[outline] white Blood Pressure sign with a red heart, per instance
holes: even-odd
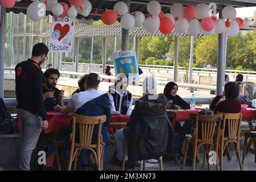
[[[49,51],[72,52],[74,34],[74,18],[58,18],[57,16],[53,16]]]

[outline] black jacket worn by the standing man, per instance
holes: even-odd
[[[15,67],[15,90],[17,108],[38,113],[43,121],[47,119],[43,101],[43,72],[40,66],[33,60],[28,59]]]

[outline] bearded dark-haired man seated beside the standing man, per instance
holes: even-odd
[[[56,88],[60,72],[57,69],[49,68],[44,72],[43,99],[46,111],[54,111],[53,107],[60,105],[64,107],[64,90]]]

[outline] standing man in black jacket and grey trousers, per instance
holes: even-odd
[[[30,170],[31,154],[39,135],[47,129],[47,114],[43,101],[43,72],[40,65],[47,60],[48,47],[43,43],[35,44],[32,57],[15,67],[17,113],[20,122],[19,167]]]

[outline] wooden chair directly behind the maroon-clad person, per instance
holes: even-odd
[[[242,170],[242,163],[240,158],[240,127],[241,127],[241,113],[222,113],[218,112],[217,114],[223,114],[222,126],[221,126],[221,139],[220,139],[220,169],[222,171],[223,166],[223,154],[225,148],[229,143],[234,143],[236,147],[237,160]],[[228,128],[228,135],[225,136],[226,127]]]

